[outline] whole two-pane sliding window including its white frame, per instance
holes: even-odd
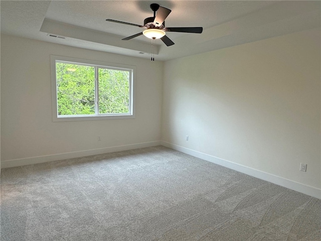
[[[51,56],[53,121],[133,118],[134,69]]]

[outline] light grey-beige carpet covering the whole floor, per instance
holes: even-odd
[[[162,146],[3,169],[1,240],[320,240],[321,200]]]

